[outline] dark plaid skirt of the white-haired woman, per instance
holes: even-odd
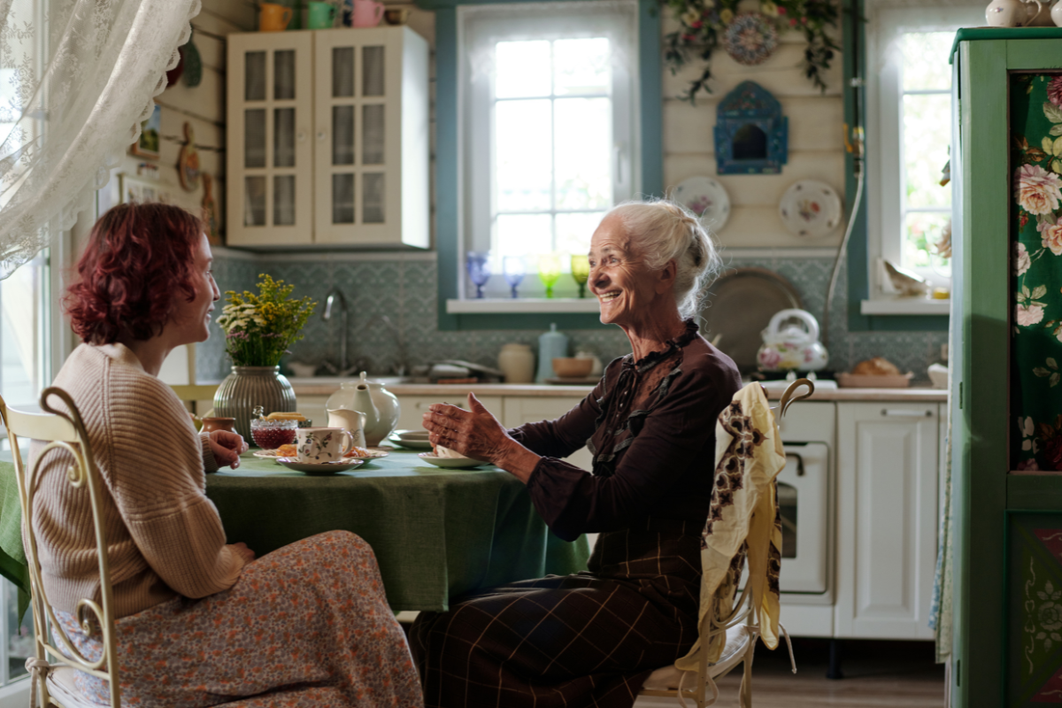
[[[425,705],[630,708],[697,639],[703,523],[603,533],[588,572],[503,585],[422,612],[410,650]]]

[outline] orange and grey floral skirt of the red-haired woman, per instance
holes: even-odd
[[[83,655],[102,654],[99,635],[56,617]],[[291,543],[247,564],[224,592],[174,598],[116,625],[123,706],[423,705],[376,557],[352,533]],[[110,700],[103,679],[79,672],[76,686]]]

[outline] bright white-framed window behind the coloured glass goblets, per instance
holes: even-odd
[[[559,297],[578,292],[601,217],[636,191],[634,2],[473,6],[460,11],[463,254],[461,292],[476,295],[464,254],[489,254],[486,297],[543,297],[539,259],[558,256]]]

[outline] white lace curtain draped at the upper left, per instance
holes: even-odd
[[[0,0],[0,279],[139,139],[200,0]]]

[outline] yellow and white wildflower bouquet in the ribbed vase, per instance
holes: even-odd
[[[218,325],[225,332],[225,351],[237,366],[276,366],[288,347],[303,339],[302,330],[316,303],[289,298],[294,286],[262,273],[258,294],[225,293],[228,305]]]

